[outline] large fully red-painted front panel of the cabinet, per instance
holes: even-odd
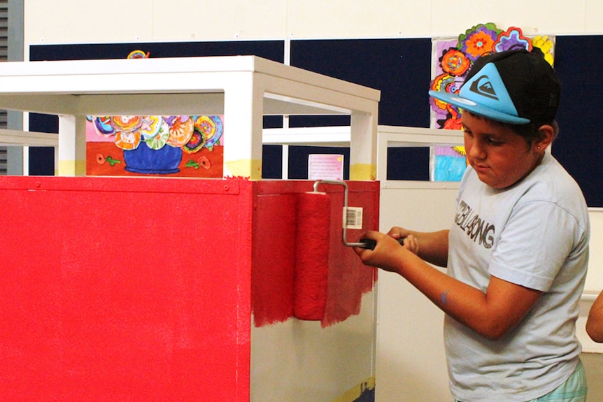
[[[0,178],[0,400],[248,401],[252,185]]]

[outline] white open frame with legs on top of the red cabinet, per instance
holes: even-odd
[[[59,116],[57,175],[85,175],[87,115],[225,116],[224,175],[262,174],[264,115],[350,115],[350,178],[374,180],[381,92],[255,56],[0,64],[0,108]],[[29,134],[24,134],[29,135]]]

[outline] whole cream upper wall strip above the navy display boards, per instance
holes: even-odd
[[[24,43],[457,36],[474,24],[599,34],[600,0],[27,0]]]

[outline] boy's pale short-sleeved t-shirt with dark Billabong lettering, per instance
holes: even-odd
[[[448,275],[483,292],[490,275],[544,292],[526,317],[488,340],[446,316],[451,392],[459,401],[524,402],[572,374],[590,224],[582,192],[546,153],[526,178],[492,189],[469,166],[449,235]]]

